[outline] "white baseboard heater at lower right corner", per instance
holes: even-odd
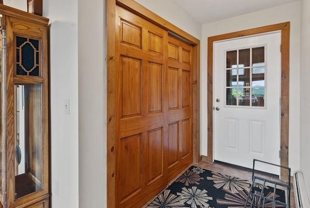
[[[294,173],[294,195],[296,208],[310,208],[305,178],[301,171],[296,171]]]

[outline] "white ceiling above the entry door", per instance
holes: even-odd
[[[199,23],[239,16],[296,0],[173,0]]]

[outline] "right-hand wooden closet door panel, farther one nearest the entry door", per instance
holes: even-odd
[[[169,36],[168,43],[168,180],[193,161],[193,47]]]

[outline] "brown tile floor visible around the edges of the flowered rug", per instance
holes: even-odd
[[[202,167],[204,169],[207,169],[207,170],[211,170],[211,171],[216,171],[216,172],[219,172],[219,173],[223,173],[223,174],[227,174],[227,175],[230,175],[230,176],[236,176],[236,177],[239,177],[239,178],[244,178],[244,179],[247,179],[249,181],[251,181],[251,177],[252,177],[252,171],[251,170],[247,170],[247,169],[241,169],[241,168],[237,168],[237,167],[233,167],[233,166],[229,166],[229,165],[224,165],[224,164],[219,164],[219,163],[210,163],[210,162],[205,162],[205,161],[202,161],[198,164],[192,164],[193,166],[197,166],[197,167]],[[183,173],[179,174],[182,175]],[[257,176],[257,175],[255,175]],[[178,176],[177,176],[178,177]],[[176,177],[176,178],[177,178]],[[272,179],[272,180],[279,180],[273,176],[264,176],[264,178],[269,178],[269,179]],[[174,181],[171,180],[169,182],[168,185],[170,185],[172,182]],[[156,197],[156,196],[155,196]],[[145,204],[143,207],[141,208],[146,208],[147,205],[149,203],[151,203],[155,197],[150,200],[150,202],[148,202],[147,204]],[[293,189],[293,177],[291,177],[291,208],[295,208],[295,199],[294,199],[294,189]]]

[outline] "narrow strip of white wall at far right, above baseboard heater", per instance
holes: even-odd
[[[300,57],[300,167],[310,195],[310,1],[301,1],[301,57]]]

